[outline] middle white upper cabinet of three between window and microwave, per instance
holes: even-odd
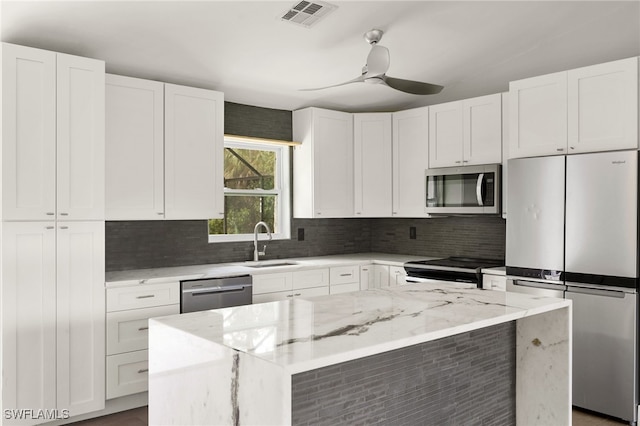
[[[391,114],[353,115],[354,213],[391,216]]]

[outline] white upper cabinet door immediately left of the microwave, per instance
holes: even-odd
[[[394,217],[426,217],[424,171],[429,168],[429,108],[393,114]]]

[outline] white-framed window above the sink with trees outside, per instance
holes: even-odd
[[[209,220],[209,242],[253,240],[259,221],[274,239],[289,238],[289,147],[227,140],[224,147],[224,219]]]

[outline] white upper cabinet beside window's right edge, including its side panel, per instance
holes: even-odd
[[[352,217],[353,118],[320,108],[293,112],[293,216]]]

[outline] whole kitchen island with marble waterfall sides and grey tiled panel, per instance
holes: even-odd
[[[150,424],[570,424],[571,302],[411,284],[149,321]]]

